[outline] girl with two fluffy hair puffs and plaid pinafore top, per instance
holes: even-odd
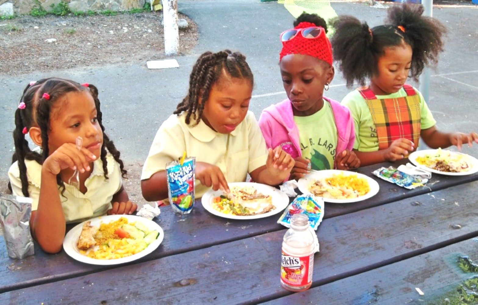
[[[462,143],[478,142],[474,132],[438,131],[422,94],[405,84],[409,74],[416,80],[425,65],[436,64],[443,51],[445,27],[422,16],[423,11],[421,5],[393,6],[386,24],[371,29],[351,16],[333,22],[334,57],[347,85],[357,80],[364,86],[370,79],[369,86],[342,100],[354,117],[354,149],[362,165],[403,159],[417,148],[420,137],[431,148],[461,149]]]

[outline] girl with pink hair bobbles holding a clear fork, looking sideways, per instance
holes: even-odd
[[[65,224],[108,214],[131,214],[120,152],[104,133],[98,89],[59,78],[31,82],[15,112],[15,153],[9,170],[14,195],[33,199],[33,238],[61,250]],[[30,150],[25,134],[41,150]],[[76,139],[82,138],[77,149]],[[79,171],[79,189],[67,182]]]

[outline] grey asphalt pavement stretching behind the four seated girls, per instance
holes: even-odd
[[[366,20],[370,26],[383,23],[393,2],[371,7],[368,1],[332,1],[338,15]],[[46,76],[95,84],[102,103],[107,133],[126,164],[140,166],[161,123],[173,113],[187,92],[189,74],[205,51],[240,51],[254,73],[255,87],[250,110],[259,118],[262,109],[286,98],[279,72],[279,34],[292,28],[293,16],[283,4],[260,0],[178,0],[178,10],[199,28],[199,41],[191,54],[171,56],[180,67],[149,70],[141,65],[108,65],[28,74],[16,77],[0,72],[0,182],[6,181],[11,163],[14,111],[23,88]],[[436,5],[433,16],[448,28],[445,52],[431,71],[429,107],[442,131],[478,131],[478,6],[447,1]],[[414,86],[418,84],[410,82]],[[353,88],[345,86],[336,69],[329,98],[341,100]],[[464,148],[478,157],[478,145]],[[3,189],[3,185],[0,189]]]

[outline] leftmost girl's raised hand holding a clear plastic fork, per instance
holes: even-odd
[[[72,170],[77,168],[80,173],[85,173],[90,170],[89,163],[96,158],[97,156],[86,148],[78,150],[76,144],[64,143],[45,159],[42,168],[54,175],[68,167]]]

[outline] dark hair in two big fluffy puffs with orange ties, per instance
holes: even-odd
[[[403,3],[388,10],[384,25],[369,28],[367,22],[353,16],[339,16],[331,22],[335,33],[331,39],[334,58],[347,80],[365,85],[378,72],[378,60],[385,48],[408,44],[412,47],[410,76],[417,80],[426,65],[435,65],[443,51],[445,26],[438,20],[422,16],[424,7]]]

